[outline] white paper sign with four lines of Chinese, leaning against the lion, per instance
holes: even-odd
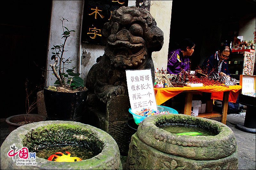
[[[151,69],[125,71],[132,112],[143,108],[157,110]]]

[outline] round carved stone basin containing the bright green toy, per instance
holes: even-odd
[[[158,128],[188,124],[215,136],[182,136]],[[140,159],[138,159],[140,158]],[[236,138],[223,123],[189,115],[152,115],[132,136],[126,169],[237,169]]]

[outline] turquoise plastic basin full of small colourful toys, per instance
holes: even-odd
[[[166,106],[160,106],[157,105],[157,110],[152,110],[150,108],[141,110],[140,112],[133,113],[131,107],[129,108],[129,112],[133,116],[133,120],[137,125],[140,125],[140,123],[145,119],[146,117],[149,117],[151,115],[157,115],[157,114],[178,114],[176,110],[174,110],[171,107]]]

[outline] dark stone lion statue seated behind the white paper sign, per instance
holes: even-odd
[[[113,11],[102,41],[105,53],[89,70],[85,84],[98,99],[107,103],[113,96],[128,95],[125,70],[150,68],[155,80],[151,54],[162,48],[164,33],[148,10],[122,6]]]

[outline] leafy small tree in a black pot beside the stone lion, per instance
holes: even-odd
[[[50,64],[53,75],[57,78],[55,86],[44,88],[44,102],[48,120],[79,121],[87,100],[88,89],[84,87],[84,80],[79,77],[80,73],[75,73],[75,67],[67,68],[71,63],[70,57],[64,58],[65,44],[68,37],[75,30],[69,30],[63,25],[68,19],[60,19],[62,23],[63,44],[53,45],[51,59],[54,61]]]

